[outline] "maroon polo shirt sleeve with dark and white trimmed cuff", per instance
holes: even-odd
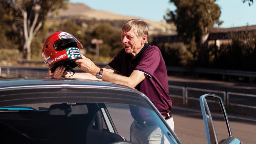
[[[149,47],[146,51],[142,53],[141,59],[138,62],[134,70],[139,70],[151,78],[153,73],[159,66],[160,55],[156,50],[156,47]]]

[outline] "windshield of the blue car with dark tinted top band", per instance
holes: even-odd
[[[86,88],[19,89],[2,91],[0,104],[0,128],[4,131],[1,138],[5,141],[129,142],[130,127],[134,123],[145,128],[154,125],[170,143],[176,143],[175,134],[136,92],[111,89],[87,92]]]

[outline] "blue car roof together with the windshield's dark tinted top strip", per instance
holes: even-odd
[[[120,84],[53,77],[0,78],[0,107],[53,101],[123,103],[156,109],[145,94]]]

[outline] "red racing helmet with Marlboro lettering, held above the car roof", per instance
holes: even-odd
[[[53,72],[58,66],[75,68],[74,59],[81,59],[82,44],[67,32],[55,32],[45,39],[42,49],[44,63]]]

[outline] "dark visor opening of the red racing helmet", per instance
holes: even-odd
[[[53,47],[56,51],[62,51],[65,50],[69,47],[78,47],[76,44],[76,40],[72,38],[65,38],[65,39],[60,39],[57,40],[54,44]]]

